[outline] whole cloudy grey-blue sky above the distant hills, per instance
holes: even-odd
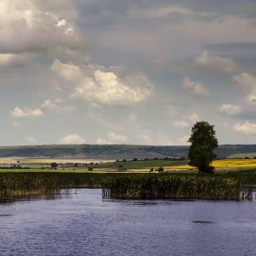
[[[0,0],[0,145],[256,144],[255,0]]]

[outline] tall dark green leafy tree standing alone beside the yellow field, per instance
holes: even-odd
[[[214,170],[214,166],[210,163],[216,159],[217,155],[213,154],[212,151],[219,144],[213,127],[214,125],[209,125],[204,121],[197,122],[192,127],[192,134],[187,141],[191,143],[188,151],[190,160],[188,165],[196,166],[199,174],[213,173]]]

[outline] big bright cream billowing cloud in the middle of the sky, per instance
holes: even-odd
[[[91,106],[133,106],[147,101],[153,94],[154,85],[143,75],[121,80],[114,72],[97,69],[88,76],[78,66],[63,64],[59,59],[54,60],[51,69],[75,87],[71,98],[83,99]]]

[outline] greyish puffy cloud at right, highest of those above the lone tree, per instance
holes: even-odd
[[[208,53],[208,51],[197,57],[196,65],[212,73],[234,75],[239,72],[237,64],[232,59],[219,57],[218,55]]]

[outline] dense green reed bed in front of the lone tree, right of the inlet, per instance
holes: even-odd
[[[136,174],[109,177],[103,195],[120,198],[191,198],[239,200],[251,198],[254,171],[223,175]]]

